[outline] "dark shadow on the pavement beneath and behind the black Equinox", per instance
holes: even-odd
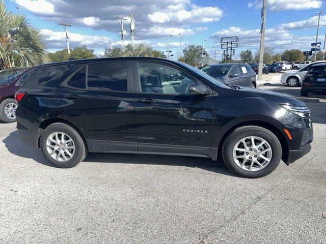
[[[16,156],[26,159],[33,159],[40,164],[49,167],[55,167],[43,157],[40,149],[23,144],[19,140],[16,131],[11,132],[3,140],[3,143],[9,152]],[[185,156],[90,153],[83,162],[184,166],[188,168],[199,168],[214,173],[235,176],[225,166],[221,157],[218,159],[218,161],[213,161],[209,158]]]

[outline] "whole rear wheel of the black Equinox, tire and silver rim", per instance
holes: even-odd
[[[44,157],[59,168],[74,167],[87,155],[82,136],[63,123],[45,128],[40,138],[40,147]]]

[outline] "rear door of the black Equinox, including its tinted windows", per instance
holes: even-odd
[[[130,62],[80,67],[57,90],[60,116],[86,135],[93,152],[137,153]]]

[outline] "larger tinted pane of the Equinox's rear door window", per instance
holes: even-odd
[[[127,92],[127,62],[88,65],[87,88]]]

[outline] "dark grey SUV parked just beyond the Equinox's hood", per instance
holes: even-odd
[[[247,64],[205,66],[202,71],[225,84],[256,87],[256,73]]]

